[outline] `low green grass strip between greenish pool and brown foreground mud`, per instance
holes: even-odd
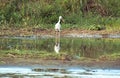
[[[0,58],[39,58],[44,60],[80,60],[80,61],[91,61],[91,60],[109,60],[115,61],[120,59],[120,53],[113,52],[112,54],[104,54],[99,56],[98,58],[89,58],[89,57],[75,57],[74,55],[67,54],[65,52],[61,52],[60,54],[56,54],[54,52],[46,52],[46,51],[35,51],[35,50],[1,50]],[[4,63],[1,61],[0,63]]]

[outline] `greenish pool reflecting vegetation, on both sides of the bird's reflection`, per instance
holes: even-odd
[[[1,37],[1,51],[36,51],[54,52],[55,39],[41,37]],[[61,38],[60,53],[72,55],[73,58],[98,58],[101,55],[120,52],[119,38]]]

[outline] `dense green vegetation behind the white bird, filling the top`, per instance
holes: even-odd
[[[119,0],[0,0],[0,27],[53,28],[62,15],[63,28],[120,30]]]

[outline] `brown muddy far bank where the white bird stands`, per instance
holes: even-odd
[[[107,31],[107,30],[82,30],[82,29],[63,29],[61,30],[61,37],[110,37],[120,38],[120,31]],[[54,29],[41,29],[41,28],[4,28],[0,29],[0,37],[11,36],[37,36],[37,37],[54,37]]]

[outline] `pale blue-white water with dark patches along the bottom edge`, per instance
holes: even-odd
[[[0,78],[120,78],[119,69],[80,67],[0,67]]]

